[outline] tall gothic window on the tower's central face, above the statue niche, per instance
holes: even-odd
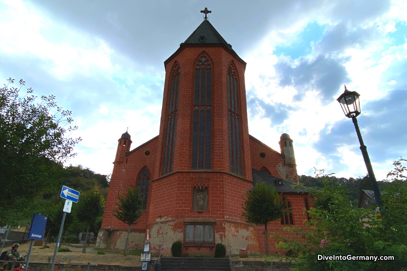
[[[211,92],[211,64],[208,58],[202,55],[195,65],[192,169],[211,168]]]

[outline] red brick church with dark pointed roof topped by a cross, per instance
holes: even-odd
[[[183,253],[213,254],[217,243],[231,252],[265,253],[263,226],[242,217],[242,195],[255,183],[272,185],[287,200],[283,218],[269,233],[303,225],[308,199],[298,183],[293,140],[280,137],[280,152],[249,135],[246,63],[207,19],[165,62],[160,133],[131,149],[118,140],[97,246],[124,249],[128,226],[113,216],[117,196],[129,185],[144,196],[146,211],[131,227],[129,249],[183,243]],[[199,251],[199,252],[198,252]],[[277,252],[270,239],[270,252]]]

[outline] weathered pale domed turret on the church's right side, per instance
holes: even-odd
[[[285,166],[278,168],[281,171],[280,174],[286,180],[298,183],[297,165],[296,157],[294,155],[293,140],[289,137],[288,134],[282,134],[280,136],[280,142],[278,142],[278,144],[280,145],[280,153],[285,156],[284,159]],[[282,170],[283,168],[286,169]]]

